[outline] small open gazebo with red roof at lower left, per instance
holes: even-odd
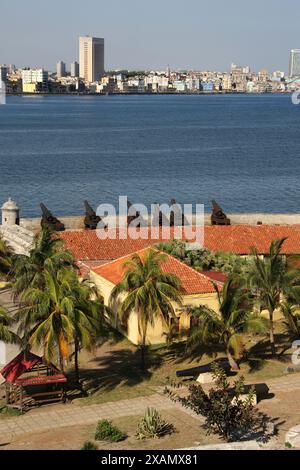
[[[0,374],[5,379],[7,406],[23,410],[48,402],[65,401],[66,376],[32,352],[22,351]]]

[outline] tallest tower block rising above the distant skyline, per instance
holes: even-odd
[[[82,36],[79,38],[80,78],[96,82],[104,75],[104,39]]]

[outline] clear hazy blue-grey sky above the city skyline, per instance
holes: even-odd
[[[80,6],[79,6],[80,5]],[[299,0],[1,0],[0,64],[55,69],[78,36],[106,41],[106,69],[288,70]],[[68,66],[69,68],[69,66]]]

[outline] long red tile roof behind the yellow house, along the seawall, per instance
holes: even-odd
[[[95,231],[76,230],[61,232],[77,260],[109,261],[126,256],[159,242],[159,240],[99,240]],[[300,253],[300,225],[232,225],[229,227],[206,226],[204,246],[211,251],[232,252],[239,255],[250,253],[255,246],[260,254],[266,254],[272,240],[288,237],[283,246],[284,254]],[[166,241],[166,240],[160,240]]]

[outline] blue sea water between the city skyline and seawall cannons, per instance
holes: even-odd
[[[300,106],[289,95],[8,97],[0,203],[81,214],[83,200],[216,199],[226,212],[300,212]]]

